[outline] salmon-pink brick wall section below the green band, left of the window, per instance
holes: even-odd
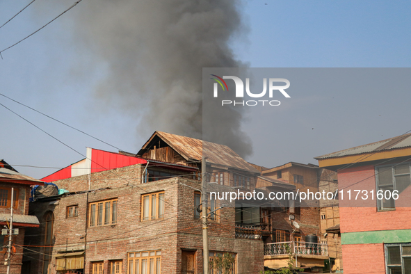
[[[343,245],[344,274],[385,274],[384,244]]]

